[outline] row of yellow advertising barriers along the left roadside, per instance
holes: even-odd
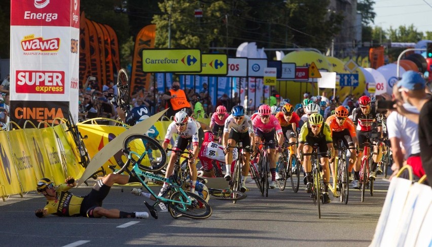
[[[99,121],[101,120],[101,121]],[[209,125],[210,119],[197,119]],[[98,122],[114,121],[115,125],[99,125]],[[39,126],[24,124],[20,128],[14,122],[12,130],[0,131],[0,196],[20,194],[21,196],[36,189],[37,181],[49,178],[56,184],[64,183],[64,178],[72,176],[81,178],[85,168],[79,163],[80,154],[64,119],[55,119],[53,124],[41,122]],[[168,118],[162,118],[154,125],[159,131],[157,139],[162,142],[168,125]],[[87,151],[92,158],[107,143],[126,131],[129,126],[122,125],[113,119],[90,119],[78,123],[78,129],[83,136]],[[9,126],[7,129],[10,129]],[[171,140],[171,142],[173,142]],[[109,166],[115,166],[119,161],[126,161],[121,150],[105,164],[101,165],[105,173],[111,173]]]

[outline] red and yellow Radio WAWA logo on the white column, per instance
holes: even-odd
[[[34,38],[34,34],[31,34],[25,36],[24,39],[21,40],[21,48],[24,51],[24,55],[40,55],[42,52],[57,52],[60,49],[60,38]]]

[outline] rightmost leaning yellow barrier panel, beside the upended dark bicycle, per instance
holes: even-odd
[[[74,142],[72,135],[70,134],[70,131],[67,131],[65,123],[56,125],[53,127],[53,129],[55,131],[57,142],[59,143],[60,152],[67,161],[67,175],[74,178],[80,178],[81,175],[84,173],[84,167],[79,163],[80,155],[78,154],[78,148]]]

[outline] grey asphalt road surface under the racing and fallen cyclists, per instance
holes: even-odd
[[[266,198],[252,183],[247,198],[236,204],[210,200],[213,214],[206,220],[173,219],[167,212],[160,212],[157,220],[39,219],[34,209],[45,205],[42,195],[11,196],[0,202],[0,246],[368,246],[389,185],[380,176],[374,196],[367,194],[365,202],[353,189],[347,205],[331,197],[330,204],[321,206],[318,219],[317,207],[304,187],[294,193],[287,184],[284,191],[270,190]],[[113,187],[103,206],[147,211],[143,197],[131,195],[131,188]],[[90,187],[72,191],[85,195]]]

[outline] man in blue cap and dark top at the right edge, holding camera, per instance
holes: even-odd
[[[420,158],[429,178],[429,184],[432,178],[432,97],[426,93],[426,83],[423,77],[409,70],[402,75],[402,80],[397,84],[403,101],[410,103],[420,111],[420,114],[408,112],[401,101],[397,101],[394,107],[399,114],[407,117],[409,120],[418,123],[418,139],[420,143]]]

